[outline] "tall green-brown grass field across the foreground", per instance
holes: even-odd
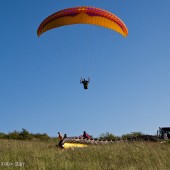
[[[62,150],[54,142],[1,139],[0,169],[169,170],[170,144],[115,142]]]

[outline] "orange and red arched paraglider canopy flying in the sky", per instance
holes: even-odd
[[[124,37],[128,35],[126,25],[116,15],[88,6],[67,8],[50,15],[40,24],[37,35],[40,36],[53,28],[71,24],[94,24],[117,31]]]

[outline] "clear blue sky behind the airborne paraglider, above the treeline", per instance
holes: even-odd
[[[75,6],[114,13],[128,37],[92,25],[37,37],[43,19]],[[97,137],[170,126],[169,7],[169,0],[1,0],[0,132]],[[81,76],[91,78],[87,91]]]

